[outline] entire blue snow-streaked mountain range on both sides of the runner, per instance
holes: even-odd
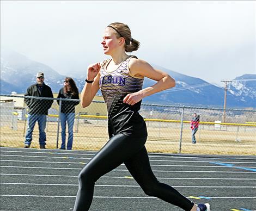
[[[200,78],[195,78],[181,73],[153,65],[161,69],[176,81],[175,88],[164,90],[154,95],[145,97],[144,103],[156,104],[185,104],[186,106],[214,106],[223,107],[224,89],[208,83]],[[35,83],[37,72],[44,72],[45,83],[50,85],[53,92],[58,92],[66,76],[59,74],[51,67],[33,61],[20,53],[1,49],[1,94],[23,94],[29,85]],[[72,77],[72,76],[69,76]],[[72,77],[74,78],[74,77]],[[84,85],[83,79],[74,78],[78,89]],[[256,108],[256,75],[242,75],[229,83],[227,91],[227,108]],[[144,87],[153,85],[154,80],[146,78]]]

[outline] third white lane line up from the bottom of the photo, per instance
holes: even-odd
[[[36,176],[36,177],[78,177],[78,175],[29,175],[24,173],[0,173],[0,175],[8,176]],[[127,179],[126,176],[117,177],[117,176],[102,176],[101,178],[123,178]],[[187,178],[187,177],[157,177],[158,179],[209,179],[209,180],[256,180],[256,178]]]

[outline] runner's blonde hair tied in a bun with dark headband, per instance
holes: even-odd
[[[137,51],[140,42],[132,38],[129,26],[124,23],[114,22],[109,24],[107,27],[110,27],[114,30],[117,38],[125,39],[125,52]]]

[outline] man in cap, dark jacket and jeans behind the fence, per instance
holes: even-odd
[[[39,72],[36,74],[36,83],[29,86],[25,96],[33,97],[51,97],[53,98],[52,90],[50,86],[44,83],[44,73]],[[39,128],[39,145],[40,148],[45,148],[46,145],[46,115],[48,109],[51,108],[53,100],[42,100],[39,98],[25,98],[28,111],[28,128],[25,138],[25,148],[29,148],[32,141],[32,133],[35,127],[36,121]]]

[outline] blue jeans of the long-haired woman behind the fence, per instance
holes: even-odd
[[[73,126],[75,121],[75,113],[60,113],[60,125],[62,126],[62,146],[60,148],[63,148],[67,150],[72,149],[73,144]],[[68,129],[69,129],[69,138],[68,138],[68,144],[66,146],[66,122],[68,122]]]

